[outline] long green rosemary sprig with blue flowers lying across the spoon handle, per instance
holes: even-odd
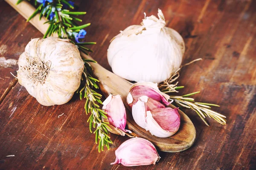
[[[18,0],[17,4],[22,1]],[[49,23],[49,27],[44,34],[44,38],[58,35],[59,38],[70,39],[81,52],[87,55],[89,52],[93,52],[86,46],[96,43],[83,41],[87,34],[84,29],[90,26],[90,23],[81,26],[76,23],[76,21],[82,21],[76,16],[84,15],[86,12],[71,12],[68,8],[74,9],[74,3],[66,0],[34,0],[34,5],[37,6],[37,9],[27,21],[35,17],[36,14],[40,15],[40,19],[45,16],[48,19],[46,23]],[[102,95],[94,90],[99,88],[97,85],[99,80],[93,78],[90,65],[90,62],[95,63],[96,61],[86,59],[83,59],[83,61],[84,72],[81,76],[81,85],[77,93],[80,94],[80,99],[86,98],[84,109],[86,114],[90,113],[87,122],[89,122],[90,132],[95,134],[96,144],[99,143],[99,152],[104,150],[104,146],[109,150],[109,145],[113,143],[109,136],[111,128],[108,126],[109,123],[104,121],[104,118],[107,118],[106,113],[98,105],[102,104]],[[93,131],[93,128],[96,128],[96,130]]]

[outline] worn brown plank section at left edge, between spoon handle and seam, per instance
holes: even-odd
[[[17,60],[23,52],[26,44],[32,37],[39,37],[41,34],[26,23],[20,16],[5,2],[1,2],[0,10],[0,104],[12,87],[17,83],[10,72],[17,75]],[[4,23],[4,24],[2,24]],[[15,44],[15,45],[14,45]]]

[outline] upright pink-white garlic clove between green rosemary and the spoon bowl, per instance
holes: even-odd
[[[102,104],[102,110],[107,113],[110,125],[115,127],[111,128],[111,133],[118,135],[125,135],[125,132],[131,133],[130,130],[125,130],[126,111],[121,96],[109,95]],[[122,133],[122,131],[124,133]]]

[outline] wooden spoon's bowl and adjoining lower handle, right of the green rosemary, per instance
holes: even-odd
[[[88,55],[85,55],[81,52],[81,57],[93,60]],[[119,77],[118,75],[113,74],[112,72],[108,71],[107,69],[103,68],[98,63],[90,63],[93,67],[93,74],[96,78],[99,79],[99,87],[105,97],[107,98],[108,95],[121,95],[122,101],[126,106],[126,113],[127,113],[127,127],[129,130],[133,131],[134,134],[138,137],[145,138],[151,141],[159,150],[164,152],[180,152],[183,150],[188,149],[192,146],[195,141],[195,127],[189,117],[183,113],[179,109],[180,113],[180,128],[174,135],[170,136],[169,138],[159,138],[156,136],[151,135],[148,131],[144,130],[143,128],[139,127],[131,114],[130,107],[126,102],[126,96],[128,95],[129,89],[133,85],[129,81]],[[171,108],[176,108],[172,104],[169,105]],[[128,108],[128,109],[127,109]]]

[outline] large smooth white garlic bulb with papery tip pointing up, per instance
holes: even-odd
[[[178,32],[166,27],[160,9],[158,17],[145,17],[141,26],[129,26],[113,37],[108,63],[116,75],[130,81],[160,83],[180,67],[184,41]]]

